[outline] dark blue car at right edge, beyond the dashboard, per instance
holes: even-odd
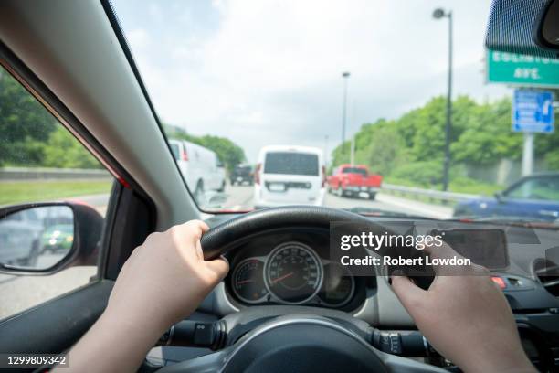
[[[456,218],[559,219],[559,173],[525,176],[495,197],[460,202]]]

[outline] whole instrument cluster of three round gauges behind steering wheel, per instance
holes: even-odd
[[[319,255],[311,242],[271,241],[253,242],[252,247],[239,250],[242,256],[233,259],[227,287],[238,304],[344,308],[353,303],[357,293],[364,293],[361,279],[353,277],[338,262],[328,260],[324,250]],[[274,245],[266,250],[265,243]],[[321,247],[328,248],[328,245]]]

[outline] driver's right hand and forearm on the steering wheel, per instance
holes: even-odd
[[[425,251],[431,258],[460,257],[446,243]],[[459,274],[434,270],[427,291],[406,276],[392,278],[397,297],[429,343],[466,372],[535,372],[511,307],[490,272],[475,264]]]

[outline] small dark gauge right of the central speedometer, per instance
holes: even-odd
[[[352,299],[355,292],[355,279],[340,264],[330,263],[324,266],[324,281],[319,298],[324,304],[342,306]]]

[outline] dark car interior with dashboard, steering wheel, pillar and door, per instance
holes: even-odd
[[[496,1],[485,42],[495,50],[559,56],[553,40],[533,39],[534,25],[551,3],[559,2]],[[549,28],[544,26],[545,35]],[[386,228],[386,217],[315,206],[250,212],[198,208],[111,1],[2,2],[0,64],[115,178],[104,222],[87,208],[68,205],[79,244],[64,262],[46,271],[19,271],[58,272],[88,261],[98,250],[97,275],[70,293],[1,320],[0,352],[68,351],[105,309],[132,251],[154,231],[199,218],[210,227],[202,238],[205,258],[224,255],[230,271],[195,314],[162,336],[139,371],[236,372],[250,365],[251,371],[274,372],[285,364],[290,371],[459,371],[417,331],[391,288],[390,267],[357,276],[330,257],[333,221],[382,233],[392,229]],[[10,211],[18,209],[23,208]],[[435,221],[412,215],[389,221],[410,219]],[[442,229],[483,224],[448,220]],[[512,307],[522,346],[540,371],[556,371],[559,231],[510,221],[493,221],[490,227],[506,239],[506,265],[490,270]],[[290,261],[295,252],[298,260]],[[292,286],[277,286],[280,280]],[[432,277],[416,280],[427,289]]]

